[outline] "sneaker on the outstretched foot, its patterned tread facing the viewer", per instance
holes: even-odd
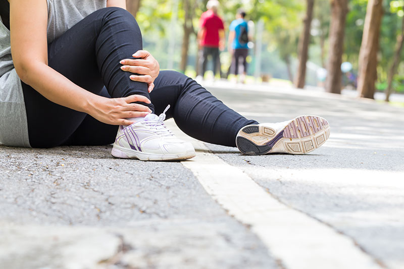
[[[245,126],[237,135],[236,145],[246,155],[305,154],[319,148],[329,137],[327,120],[317,116],[299,116],[278,132],[264,125]]]

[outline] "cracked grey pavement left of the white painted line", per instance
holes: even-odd
[[[0,145],[1,268],[277,268],[181,163],[110,150]]]

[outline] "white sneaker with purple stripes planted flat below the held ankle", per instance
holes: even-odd
[[[148,114],[129,126],[119,126],[111,154],[140,160],[184,160],[195,156],[191,143],[178,139],[164,124],[166,110]]]

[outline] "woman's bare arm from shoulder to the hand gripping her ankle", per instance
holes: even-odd
[[[29,16],[26,11],[29,10]],[[143,96],[105,98],[93,94],[47,65],[47,5],[43,0],[11,0],[11,51],[14,66],[23,82],[47,99],[90,114],[113,125],[128,125],[126,118],[143,117],[147,107],[131,102],[150,101]],[[74,67],[72,67],[74,68]],[[140,112],[142,111],[142,112]]]

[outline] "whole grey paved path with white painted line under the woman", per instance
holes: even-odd
[[[114,159],[111,146],[0,146],[0,267],[404,267],[403,109],[209,89],[260,122],[325,117],[331,137],[303,156],[193,141],[198,155],[182,163]]]

